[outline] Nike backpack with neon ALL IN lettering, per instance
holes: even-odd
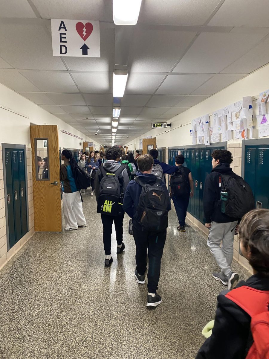
[[[120,166],[114,173],[107,172],[104,166],[100,166],[99,168],[103,174],[103,178],[100,182],[97,213],[117,216],[123,213],[123,197],[118,176],[124,171],[124,167]]]

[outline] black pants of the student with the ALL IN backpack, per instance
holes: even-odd
[[[108,216],[107,214],[101,214],[101,219],[103,223],[103,242],[105,255],[109,256],[111,254],[111,234],[112,234],[112,224],[114,222],[116,239],[118,245],[122,244],[122,235],[123,235],[123,214],[117,216]]]

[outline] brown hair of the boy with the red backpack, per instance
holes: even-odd
[[[269,209],[254,209],[244,215],[239,238],[249,251],[249,263],[257,272],[269,276]]]

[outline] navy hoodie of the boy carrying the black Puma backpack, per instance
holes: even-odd
[[[154,174],[148,174],[148,173],[141,173],[138,172],[136,175],[139,177],[140,180],[142,180],[145,184],[146,183],[155,183],[156,182],[156,176]],[[161,182],[162,187],[164,190],[168,193],[167,187],[164,183],[164,181]],[[138,183],[134,180],[130,181],[123,199],[123,210],[128,214],[129,217],[133,218],[139,203],[139,197],[141,195],[142,186],[138,185]],[[170,211],[171,209],[171,203],[169,207],[167,208],[167,211]],[[134,223],[136,224],[136,223]]]

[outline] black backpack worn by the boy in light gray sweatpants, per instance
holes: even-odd
[[[222,213],[232,218],[242,218],[255,208],[255,201],[250,185],[237,174],[221,174],[221,191],[227,192],[226,200],[221,209]]]

